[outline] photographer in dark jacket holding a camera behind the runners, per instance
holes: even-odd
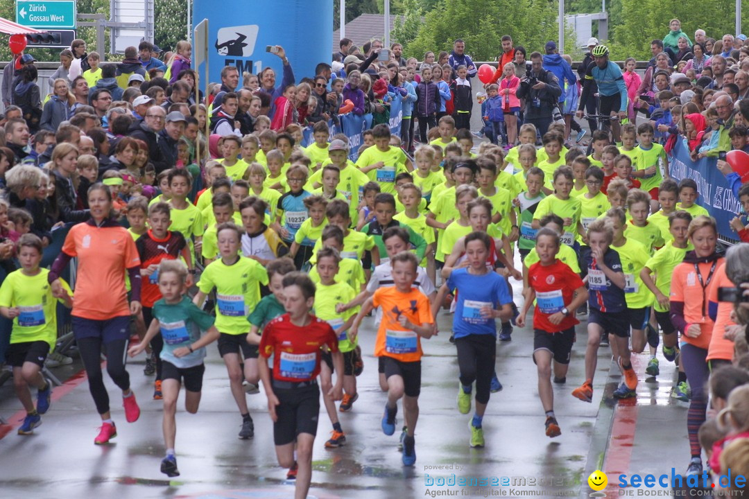
[[[533,123],[543,136],[554,120],[554,110],[562,95],[557,77],[551,71],[544,70],[543,57],[540,52],[530,55],[530,67],[521,79],[518,88],[518,99],[525,99],[524,123]]]

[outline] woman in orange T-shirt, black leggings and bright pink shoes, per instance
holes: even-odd
[[[58,277],[73,257],[78,257],[75,298],[73,298],[73,334],[88,375],[88,388],[94,397],[102,426],[94,444],[106,444],[117,436],[109,414],[109,395],[101,373],[101,348],[106,352],[106,370],[122,390],[128,423],[140,416],[130,377],[125,370],[125,352],[130,339],[130,316],[140,313],[140,258],[130,233],[111,218],[112,193],[95,183],[88,189],[91,218],[73,226],[67,233],[62,251],[52,264],[49,284],[57,293]],[[127,301],[125,270],[130,275],[132,298]],[[57,294],[55,294],[57,296]]]

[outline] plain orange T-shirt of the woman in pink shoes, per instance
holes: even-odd
[[[62,251],[78,257],[73,312],[84,319],[106,320],[129,316],[125,269],[140,267],[133,236],[124,227],[74,225]]]

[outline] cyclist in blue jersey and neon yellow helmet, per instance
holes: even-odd
[[[627,86],[622,77],[621,68],[609,61],[608,54],[609,49],[605,45],[593,47],[592,55],[595,64],[590,64],[586,70],[583,95],[580,97],[580,104],[575,113],[577,117],[583,117],[586,99],[595,85],[598,86],[599,116],[619,114],[619,120],[627,117]],[[595,85],[593,85],[594,82]],[[611,128],[614,139],[619,141],[619,123],[613,121]]]

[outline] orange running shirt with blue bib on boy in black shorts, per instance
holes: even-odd
[[[422,349],[419,334],[401,326],[401,315],[413,324],[433,323],[429,299],[413,288],[401,293],[395,287],[381,287],[372,296],[372,304],[382,309],[382,322],[377,329],[375,357],[392,357],[401,362],[421,360]]]

